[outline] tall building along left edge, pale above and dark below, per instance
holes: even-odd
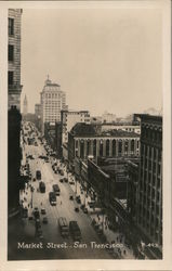
[[[21,9],[9,10],[9,129],[8,129],[8,209],[18,212],[21,168]]]

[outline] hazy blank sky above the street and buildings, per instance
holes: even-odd
[[[162,99],[160,10],[23,10],[22,83],[29,112],[47,75],[71,109],[124,116]]]

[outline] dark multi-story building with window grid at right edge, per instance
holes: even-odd
[[[141,115],[137,225],[150,243],[162,245],[162,117]]]

